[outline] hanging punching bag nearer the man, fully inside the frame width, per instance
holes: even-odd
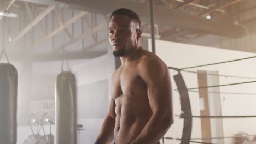
[[[77,143],[75,76],[62,71],[55,86],[55,144]]]

